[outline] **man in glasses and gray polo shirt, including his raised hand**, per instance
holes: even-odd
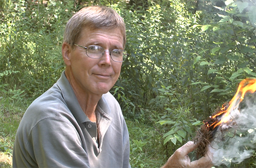
[[[125,43],[124,21],[111,8],[83,8],[68,21],[62,45],[65,72],[25,112],[13,167],[130,167],[129,133],[108,92],[127,56]],[[184,145],[163,167],[210,165],[209,157],[190,163],[187,154],[194,147]]]

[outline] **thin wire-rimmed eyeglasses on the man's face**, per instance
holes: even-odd
[[[113,49],[112,51],[104,50],[103,47],[100,46],[80,46],[78,44],[74,44],[75,46],[84,48],[86,50],[86,55],[92,59],[99,59],[104,55],[106,51],[110,53],[110,57],[115,62],[124,62],[126,57],[129,55],[125,50],[121,49]]]

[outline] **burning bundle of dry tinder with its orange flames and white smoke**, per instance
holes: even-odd
[[[256,143],[256,105],[243,100],[255,91],[256,79],[242,80],[233,99],[203,121],[194,139],[197,157],[204,156],[209,144],[215,165],[241,163],[251,157]],[[242,101],[246,106],[241,108]]]

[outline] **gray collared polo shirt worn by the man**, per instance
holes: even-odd
[[[13,167],[130,167],[129,133],[117,100],[104,94],[96,113],[98,124],[82,111],[63,72],[23,115]]]

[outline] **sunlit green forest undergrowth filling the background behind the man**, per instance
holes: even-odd
[[[111,93],[129,127],[132,167],[163,165],[242,79],[256,77],[255,0],[1,0],[0,167],[11,167],[25,109],[65,67],[66,22],[95,4],[126,23],[130,56]],[[255,167],[255,158],[219,167]]]

